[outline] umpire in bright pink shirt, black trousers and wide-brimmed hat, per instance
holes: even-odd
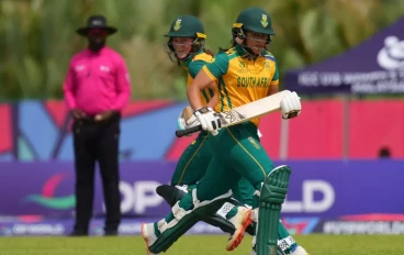
[[[89,234],[92,215],[96,162],[99,163],[105,202],[105,235],[116,235],[121,221],[119,191],[119,138],[121,110],[131,96],[124,59],[105,46],[116,32],[102,15],[90,16],[77,33],[88,46],[69,64],[65,100],[74,118],[76,169],[76,223],[71,235]]]

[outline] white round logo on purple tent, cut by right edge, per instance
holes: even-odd
[[[404,41],[388,36],[378,54],[378,64],[388,70],[404,69]]]

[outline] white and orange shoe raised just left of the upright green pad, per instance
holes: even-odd
[[[246,233],[246,229],[251,224],[251,209],[245,208],[245,207],[238,207],[237,208],[237,214],[234,215],[228,221],[232,222],[234,228],[236,229],[234,231],[234,234],[231,235],[231,237],[227,241],[227,251],[235,250],[243,241],[244,235]]]

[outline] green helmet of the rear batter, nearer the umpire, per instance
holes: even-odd
[[[206,38],[202,22],[193,15],[178,16],[171,24],[167,37],[200,37]]]

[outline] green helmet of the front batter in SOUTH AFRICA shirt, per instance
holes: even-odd
[[[233,27],[243,27],[243,30],[256,33],[274,35],[271,18],[268,12],[257,7],[247,8],[242,11]]]

